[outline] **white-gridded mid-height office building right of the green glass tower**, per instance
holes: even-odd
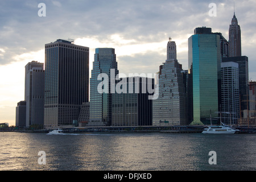
[[[238,63],[221,63],[221,118],[227,125],[236,125],[240,117]]]

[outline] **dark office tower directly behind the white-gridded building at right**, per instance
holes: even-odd
[[[243,110],[247,110],[247,100],[249,98],[249,71],[248,71],[248,57],[238,56],[238,57],[225,57],[222,59],[224,62],[235,62],[238,63],[239,70],[239,93],[240,93],[240,115],[243,118]],[[250,109],[250,105],[249,108]]]

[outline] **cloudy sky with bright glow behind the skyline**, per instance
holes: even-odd
[[[242,32],[242,55],[249,57],[249,78],[256,80],[256,1],[172,0],[1,0],[0,123],[15,125],[15,107],[24,100],[24,67],[44,63],[44,44],[74,39],[90,48],[115,48],[119,72],[155,73],[166,60],[168,38],[177,45],[177,59],[188,68],[188,38],[196,27],[211,27],[228,40],[236,16]],[[39,16],[39,3],[46,16]],[[216,16],[209,16],[210,3]],[[41,12],[41,11],[40,11]]]

